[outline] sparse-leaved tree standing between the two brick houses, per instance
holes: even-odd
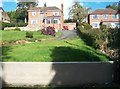
[[[86,19],[88,15],[88,11],[90,8],[83,8],[79,2],[74,2],[72,7],[70,8],[70,18],[75,19],[79,24],[83,22],[83,20]]]

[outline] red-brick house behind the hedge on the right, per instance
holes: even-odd
[[[100,23],[107,27],[120,27],[119,14],[113,9],[97,9],[88,15],[88,23],[93,28],[100,28]]]

